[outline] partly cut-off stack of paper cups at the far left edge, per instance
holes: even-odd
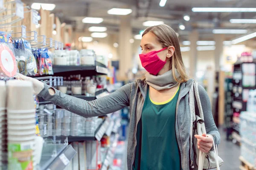
[[[0,166],[7,163],[6,85],[0,81]]]

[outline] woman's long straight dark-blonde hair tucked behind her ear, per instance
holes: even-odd
[[[179,40],[175,31],[167,25],[151,26],[144,31],[144,33],[142,34],[142,37],[148,32],[151,32],[156,36],[158,42],[162,44],[163,48],[166,48],[169,46],[173,46],[175,48],[174,54],[170,58],[169,70],[172,69],[172,75],[175,81],[180,83],[188,81],[189,76],[186,73],[186,68],[183,63],[181,52],[180,52]],[[176,76],[175,69],[180,75],[179,77]],[[145,77],[143,77],[142,79],[145,79]]]

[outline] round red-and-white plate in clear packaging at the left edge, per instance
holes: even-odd
[[[0,79],[19,73],[12,44],[0,42]]]

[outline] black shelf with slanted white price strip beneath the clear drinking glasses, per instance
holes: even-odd
[[[81,135],[81,136],[68,136],[68,142],[82,142],[82,141],[93,141],[93,140],[98,140],[100,141],[102,139],[102,136],[106,132],[108,125],[109,125],[108,120],[104,120],[100,123],[98,128],[95,130],[94,135]]]

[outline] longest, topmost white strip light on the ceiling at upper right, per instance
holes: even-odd
[[[192,8],[193,12],[256,12],[256,8]]]

